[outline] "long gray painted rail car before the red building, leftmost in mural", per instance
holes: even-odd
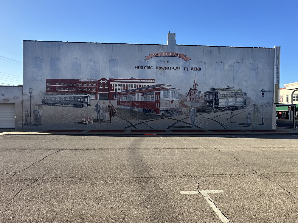
[[[88,107],[90,105],[89,94],[45,94],[41,97],[43,105],[72,105],[73,107]]]

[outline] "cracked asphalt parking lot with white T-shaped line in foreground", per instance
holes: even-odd
[[[0,136],[0,222],[297,222],[297,139]]]

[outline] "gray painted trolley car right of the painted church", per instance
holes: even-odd
[[[204,92],[205,111],[226,111],[246,107],[246,93],[233,87],[210,88]]]

